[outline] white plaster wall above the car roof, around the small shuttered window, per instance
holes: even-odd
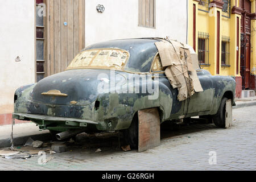
[[[166,37],[186,43],[187,0],[156,0],[155,28],[138,27],[138,0],[85,1],[85,45],[122,38]],[[97,5],[104,5],[98,13]]]

